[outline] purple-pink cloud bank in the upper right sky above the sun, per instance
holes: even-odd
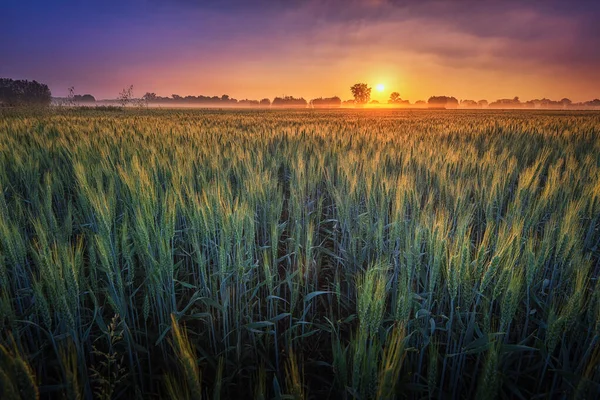
[[[555,4],[555,6],[553,6]],[[338,1],[307,2],[288,19],[307,21],[302,42],[335,38],[343,47],[375,46],[430,53],[440,62],[494,59],[505,64],[597,66],[600,27],[587,13],[563,13],[563,2]],[[596,8],[592,8],[592,13]],[[286,26],[282,15],[282,27]],[[409,40],[403,40],[408,38]],[[314,40],[313,40],[314,43]],[[488,60],[488,61],[485,61]]]

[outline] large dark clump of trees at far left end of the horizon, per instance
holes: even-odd
[[[0,78],[0,104],[7,106],[49,106],[52,93],[37,81]]]

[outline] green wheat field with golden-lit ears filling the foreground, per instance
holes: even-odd
[[[3,399],[595,398],[600,113],[0,115]]]

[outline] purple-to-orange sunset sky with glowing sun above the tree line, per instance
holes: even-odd
[[[600,97],[600,1],[1,0],[0,77],[54,96]]]

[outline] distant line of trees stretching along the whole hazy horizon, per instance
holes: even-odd
[[[366,83],[356,83],[350,87],[352,98],[342,101],[338,96],[319,97],[305,100],[303,97],[281,96],[275,97],[273,101],[268,98],[261,100],[243,99],[237,100],[227,94],[222,96],[180,96],[172,94],[170,97],[158,96],[156,93],[146,92],[143,96],[135,98],[133,94],[133,85],[124,88],[116,99],[104,100],[104,103],[118,103],[121,106],[138,105],[148,106],[150,104],[190,104],[207,106],[237,106],[237,107],[291,107],[291,108],[334,108],[341,106],[362,107],[367,104],[380,104],[377,100],[371,100],[371,87]],[[0,78],[0,106],[23,106],[39,105],[48,106],[53,98],[48,85],[37,81],[13,80]],[[73,106],[78,104],[93,104],[96,99],[91,94],[75,94],[75,88],[68,89],[68,95],[64,98],[55,98],[55,104]],[[394,91],[390,93],[387,101],[388,105],[394,107],[416,107],[416,108],[596,108],[600,107],[600,99],[594,99],[587,102],[574,103],[568,98],[559,101],[547,98],[533,99],[522,102],[519,97],[512,99],[498,99],[493,102],[482,100],[458,100],[452,96],[431,96],[427,101],[419,100],[411,103],[401,98],[400,93]]]

